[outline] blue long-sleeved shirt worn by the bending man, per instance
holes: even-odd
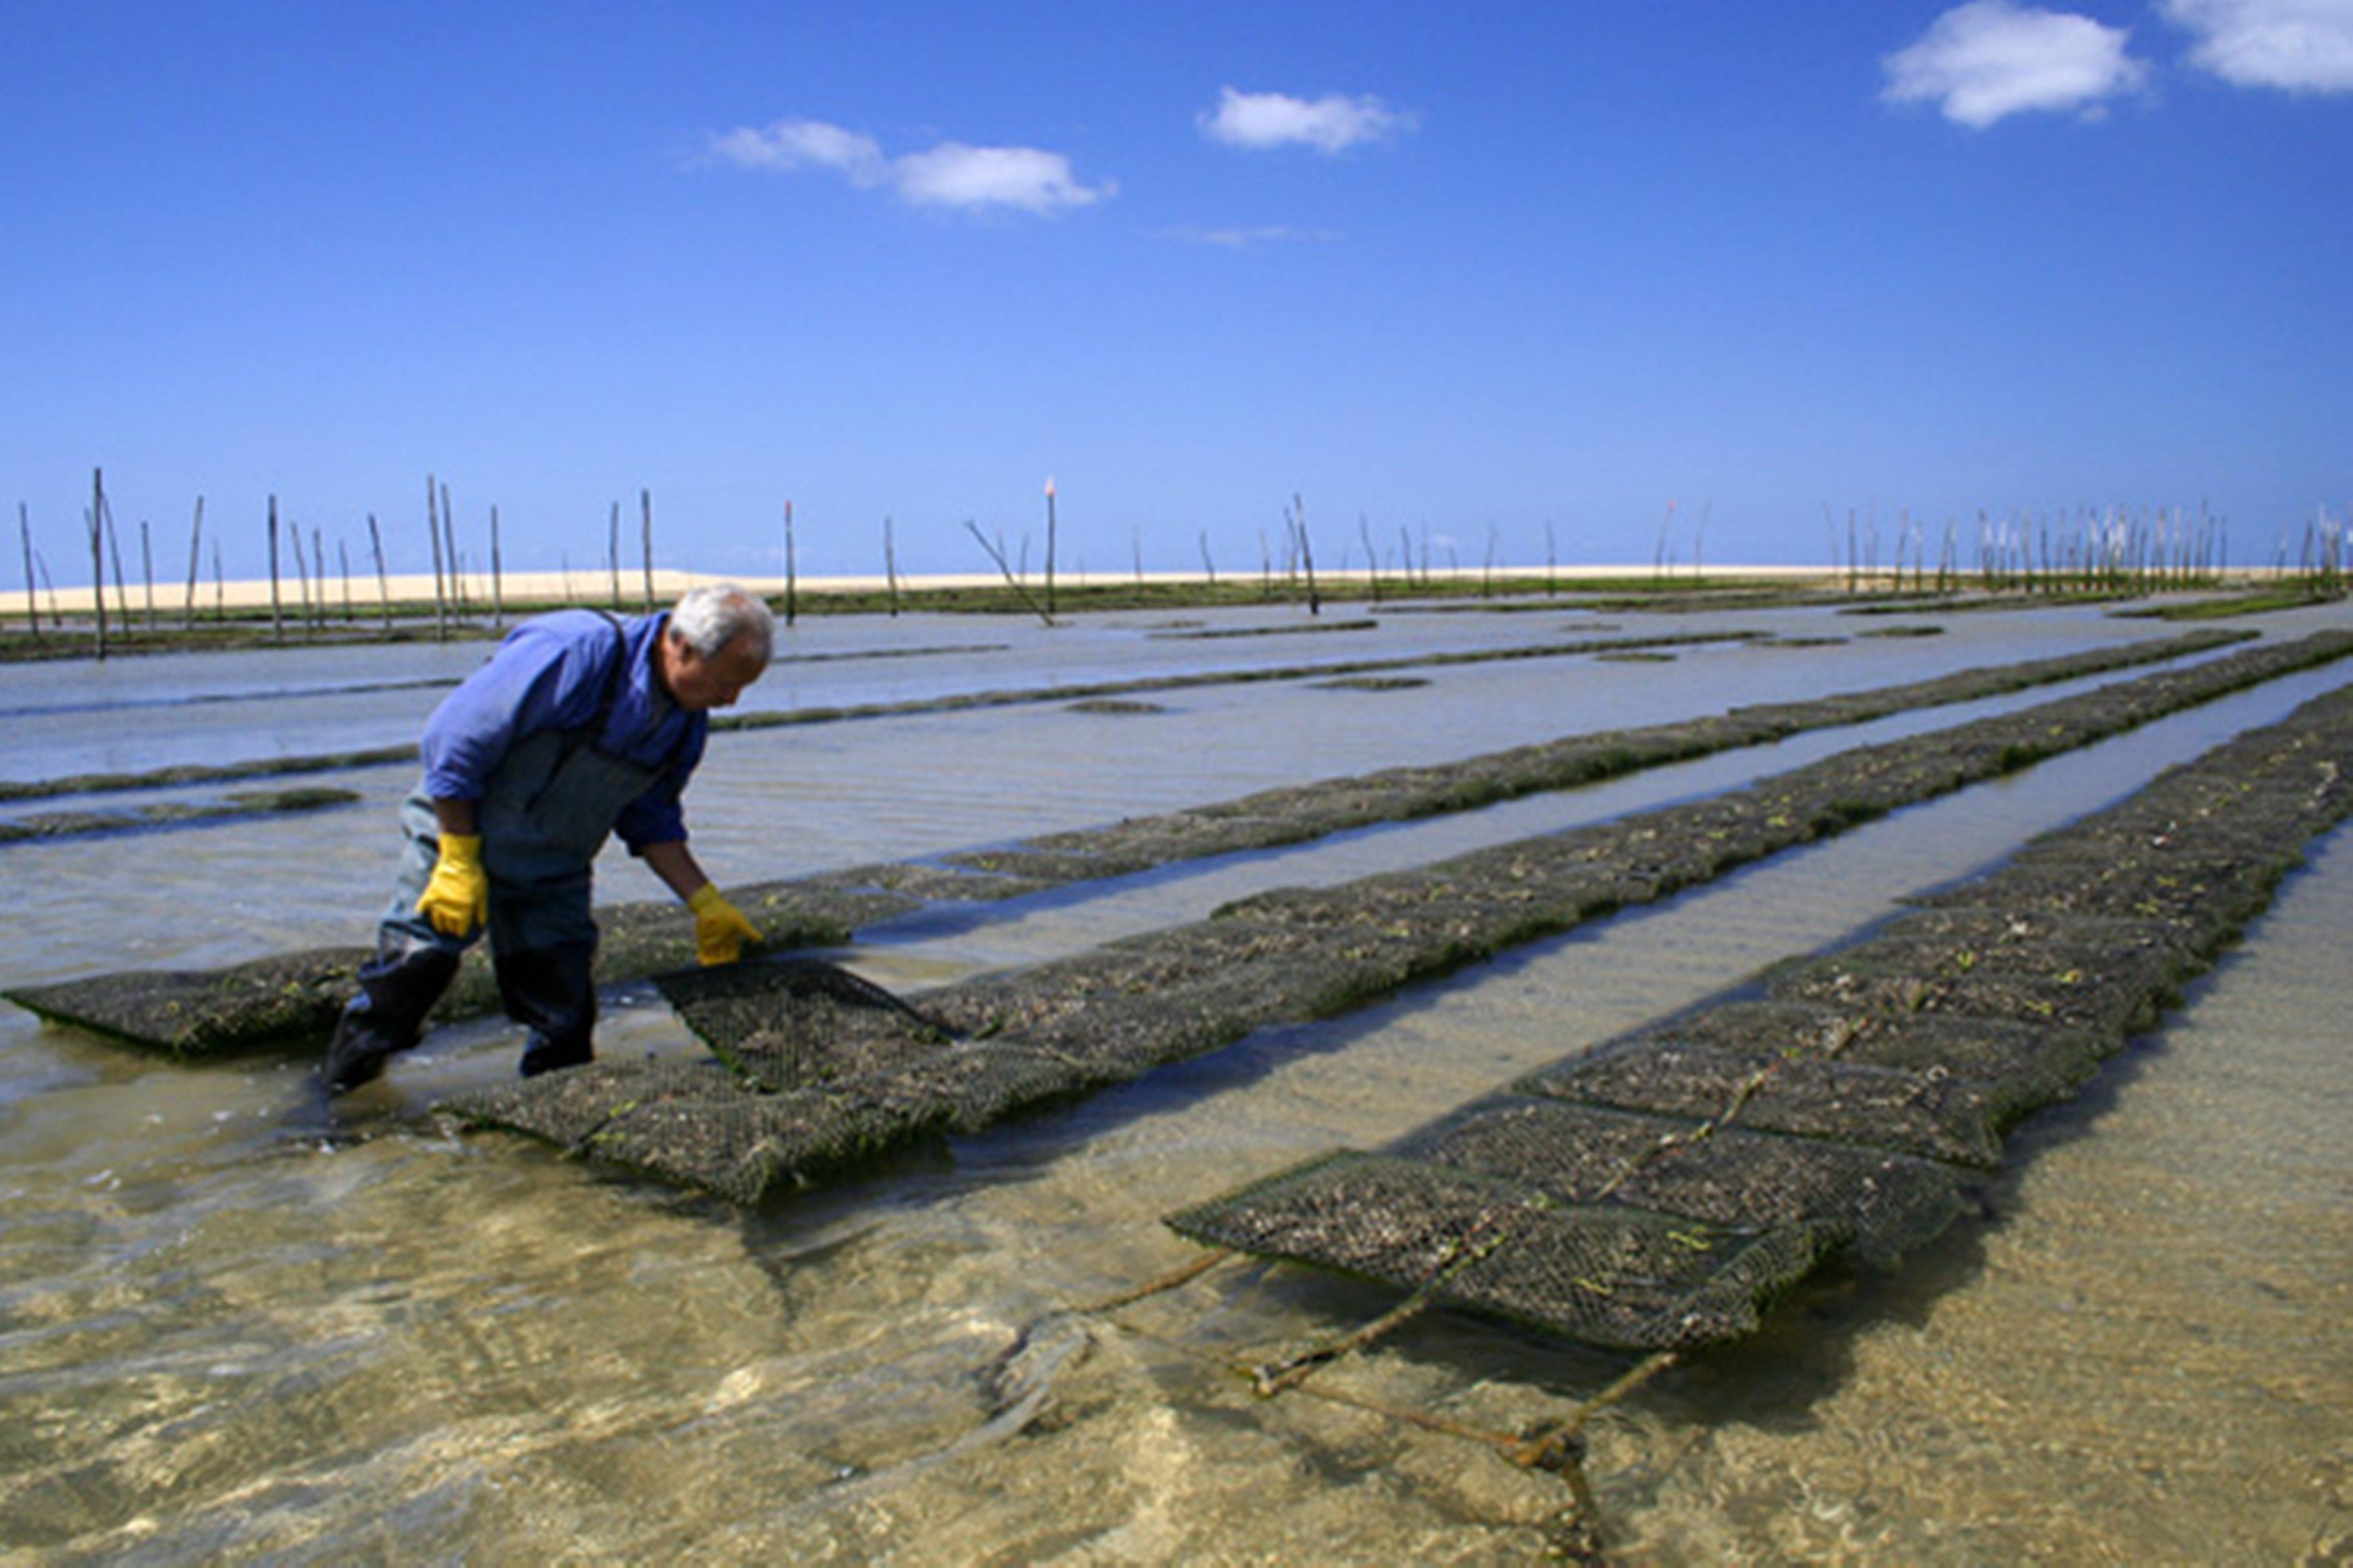
[[[659,778],[614,823],[631,853],[685,842],[687,818],[678,797],[704,759],[711,731],[708,715],[682,710],[654,675],[654,646],[668,621],[668,614],[621,621],[628,665],[614,689],[612,717],[595,736],[600,750],[659,769]],[[426,719],[426,795],[478,802],[518,741],[544,729],[586,729],[605,701],[612,661],[612,623],[595,611],[560,609],[518,625],[489,663]]]

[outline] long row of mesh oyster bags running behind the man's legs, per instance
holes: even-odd
[[[2245,635],[2193,632],[2153,644],[1962,670],[1927,682],[1838,693],[1807,703],[1734,708],[1713,719],[1569,736],[1447,766],[1388,769],[1242,799],[1129,818],[1108,827],[1045,835],[936,863],[861,865],[819,877],[736,889],[772,947],[842,945],[854,931],[913,914],[927,903],[1002,900],[1073,882],[1120,877],[1181,860],[1278,849],[1315,837],[1478,809],[1544,790],[1569,790],[1647,766],[1779,741],[1807,729],[1861,724],[1911,708],[1979,701],[2144,663],[2205,654]],[[1518,654],[1518,651],[1513,651]],[[692,924],[673,905],[628,903],[598,912],[602,983],[640,980],[694,959]],[[195,973],[113,973],[5,994],[47,1020],[167,1056],[325,1039],[351,994],[362,950],[311,950]],[[496,1009],[482,957],[468,954],[435,1018]]]

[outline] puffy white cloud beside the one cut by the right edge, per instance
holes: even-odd
[[[1984,129],[2026,110],[2097,115],[2148,66],[2125,54],[2125,31],[2012,0],[1969,0],[1880,61],[1889,103],[1934,101],[1946,120]]]

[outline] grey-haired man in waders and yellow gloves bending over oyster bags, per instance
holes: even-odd
[[[485,929],[506,1016],[529,1030],[522,1077],[591,1060],[591,865],[612,832],[694,910],[704,964],[760,940],[687,849],[680,790],[708,712],[760,679],[772,644],[767,604],[734,585],[661,616],[565,609],[508,632],[426,722],[393,905],[320,1067],[329,1093],[416,1044]]]

